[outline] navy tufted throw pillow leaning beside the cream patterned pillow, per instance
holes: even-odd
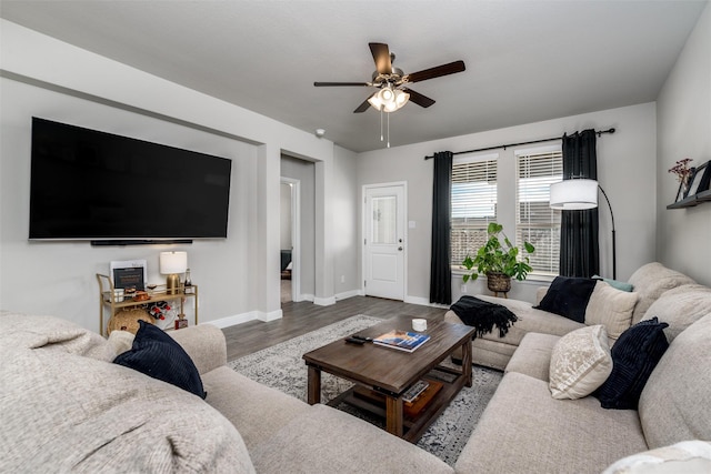
[[[650,374],[669,347],[657,316],[624,331],[612,346],[612,373],[594,393],[603,409],[637,410]]]

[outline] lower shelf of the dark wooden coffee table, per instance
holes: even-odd
[[[438,376],[443,375],[443,376]],[[412,405],[403,404],[403,435],[402,438],[410,443],[417,443],[424,434],[427,428],[437,420],[437,417],[447,409],[449,402],[459,393],[462,387],[462,374],[450,370],[449,367],[438,366],[430,374],[423,377],[430,383],[428,391],[432,394],[423,393]],[[450,379],[447,381],[445,379]],[[387,399],[388,395],[356,384],[351,389],[341,393],[331,400],[328,405],[338,406],[341,403],[348,403],[358,410],[370,413],[382,418],[383,424],[387,421]]]

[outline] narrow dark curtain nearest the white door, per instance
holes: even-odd
[[[434,153],[432,189],[432,263],[430,268],[430,303],[452,303],[450,266],[450,195],[452,189],[452,152]]]

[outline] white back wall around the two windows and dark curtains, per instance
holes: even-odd
[[[408,181],[408,295],[407,301],[429,302],[430,239],[432,209],[432,161],[424,160],[438,151],[467,151],[478,148],[561,137],[563,132],[585,129],[608,130],[598,140],[598,180],[605,190],[615,218],[618,235],[618,279],[628,279],[641,264],[655,255],[655,105],[645,103],[567,117],[489,132],[453,137],[408,147],[361,153],[358,160],[359,185],[388,181]],[[397,130],[391,130],[397,133]],[[530,148],[530,145],[521,147]],[[500,180],[514,180],[514,148],[498,150]],[[513,233],[512,196],[499,196],[499,203],[511,208],[502,212],[500,223]],[[507,204],[507,202],[509,204]],[[505,215],[504,215],[505,214]],[[600,208],[601,273],[612,274],[611,223],[607,205]],[[452,297],[457,300],[460,280],[452,276]],[[532,301],[541,282],[514,282],[511,297]],[[482,282],[469,283],[468,293],[487,292]]]

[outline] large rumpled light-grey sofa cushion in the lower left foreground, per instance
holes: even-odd
[[[110,362],[19,347],[8,331],[0,471],[254,472],[234,426],[202,400]]]

